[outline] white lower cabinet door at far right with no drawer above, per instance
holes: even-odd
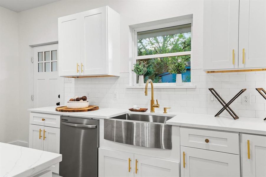
[[[266,137],[242,134],[243,177],[266,176]]]

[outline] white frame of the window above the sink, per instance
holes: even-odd
[[[182,56],[182,55],[190,55],[190,62],[192,63],[193,19],[188,18],[188,19],[182,19],[182,20],[177,20],[173,22],[167,22],[168,19],[164,19],[163,21],[165,22],[161,22],[159,24],[154,24],[154,25],[136,27],[132,29],[133,30],[133,57],[132,57],[133,61],[132,61],[132,64],[136,64],[137,60],[141,60],[141,59],[172,57],[172,56]],[[191,51],[138,56],[138,49],[137,49],[138,47],[137,33],[138,32],[156,30],[160,28],[167,28],[167,27],[179,26],[179,25],[184,25],[184,24],[191,24]],[[191,72],[191,76],[192,76],[192,72]],[[176,85],[174,82],[173,83],[153,83],[153,84],[154,86],[166,86],[166,88],[167,86]],[[133,73],[133,86],[138,86],[136,73]],[[190,82],[184,82],[183,86],[192,86],[192,80]]]

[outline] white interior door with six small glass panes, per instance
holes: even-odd
[[[63,104],[64,78],[58,76],[58,44],[33,47],[33,59],[34,108]]]

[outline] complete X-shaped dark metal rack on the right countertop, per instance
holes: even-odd
[[[209,89],[211,91],[211,93],[215,96],[215,98],[221,103],[221,105],[223,106],[223,108],[215,115],[219,116],[224,110],[226,110],[234,119],[238,119],[239,117],[237,116],[237,114],[229,107],[229,105],[235,101],[235,99],[237,99],[237,97],[239,97],[242,93],[244,93],[244,91],[246,91],[247,89],[242,89],[241,91],[239,91],[228,103],[226,103],[222,97],[214,90],[214,88],[210,88]]]

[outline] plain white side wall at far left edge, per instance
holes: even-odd
[[[0,7],[0,142],[19,137],[17,12]]]

